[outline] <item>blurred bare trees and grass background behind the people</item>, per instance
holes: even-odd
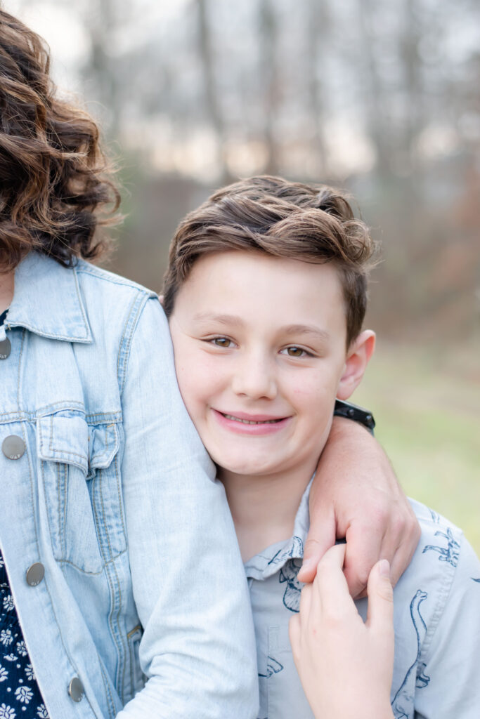
[[[480,551],[477,0],[5,0],[119,158],[110,267],[160,290],[178,220],[253,173],[348,188],[383,242],[354,400]]]

